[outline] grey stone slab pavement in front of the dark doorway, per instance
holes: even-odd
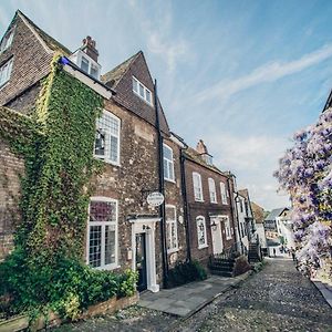
[[[220,293],[247,279],[249,274],[250,271],[235,278],[211,276],[204,281],[190,282],[174,289],[162,289],[157,293],[147,291],[141,294],[138,305],[188,317]]]

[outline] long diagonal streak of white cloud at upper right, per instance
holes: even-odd
[[[248,75],[232,81],[221,81],[216,85],[206,89],[197,95],[196,102],[201,103],[209,98],[226,100],[227,97],[251,86],[266,82],[273,82],[281,77],[301,72],[302,70],[320,63],[321,61],[331,56],[332,45],[329,44],[312,53],[303,55],[299,60],[263,64]]]

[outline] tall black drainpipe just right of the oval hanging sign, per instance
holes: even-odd
[[[164,179],[164,148],[163,148],[163,134],[160,129],[159,112],[158,112],[158,95],[157,95],[157,80],[155,80],[155,110],[156,110],[156,129],[158,137],[158,177],[159,177],[159,193],[165,197],[165,179]],[[160,237],[162,237],[162,257],[163,257],[163,280],[164,286],[167,286],[168,278],[168,261],[167,261],[167,245],[166,245],[166,210],[165,199],[159,206],[160,220]]]

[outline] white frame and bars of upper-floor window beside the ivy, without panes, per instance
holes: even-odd
[[[106,110],[103,110],[102,112],[102,116],[110,116],[112,117],[113,120],[115,120],[117,122],[117,126],[118,126],[118,133],[117,135],[115,135],[114,133],[111,133],[111,129],[110,128],[98,128],[98,118],[96,120],[96,132],[97,131],[102,131],[105,135],[105,141],[106,142],[110,142],[108,144],[111,145],[111,137],[116,137],[117,138],[117,159],[116,160],[112,160],[111,159],[111,153],[110,153],[110,148],[106,149],[105,148],[105,154],[104,155],[96,155],[95,154],[95,141],[94,141],[94,145],[93,145],[93,155],[96,159],[101,159],[101,160],[104,160],[105,163],[108,163],[108,164],[112,164],[112,165],[115,165],[115,166],[120,166],[120,146],[121,146],[121,120],[115,116],[113,113],[106,111]],[[97,134],[97,133],[96,133]]]

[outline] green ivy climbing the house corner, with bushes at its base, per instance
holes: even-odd
[[[7,313],[53,308],[75,319],[89,304],[133,294],[137,276],[95,271],[82,261],[90,179],[102,169],[93,144],[103,98],[58,60],[31,117],[0,108],[0,133],[25,162],[22,222],[14,251],[0,264],[0,302]]]

